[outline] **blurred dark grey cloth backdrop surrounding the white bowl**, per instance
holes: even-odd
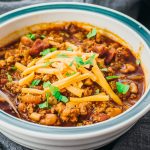
[[[84,2],[123,12],[150,29],[150,0],[0,0],[0,14],[44,2]],[[0,150],[29,150],[0,133]],[[150,112],[130,131],[99,150],[150,150]]]

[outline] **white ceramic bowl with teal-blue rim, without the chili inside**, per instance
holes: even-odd
[[[48,3],[24,7],[0,16],[0,39],[20,28],[43,22],[81,21],[108,29],[123,38],[135,52],[141,47],[146,91],[125,113],[89,126],[47,127],[29,123],[0,111],[0,131],[11,140],[32,149],[79,150],[101,147],[129,130],[150,110],[150,32],[117,11],[82,3]]]

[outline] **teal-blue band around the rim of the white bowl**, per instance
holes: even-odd
[[[74,10],[82,10],[82,11],[88,11],[88,12],[94,12],[97,14],[103,14],[108,17],[111,17],[115,20],[118,20],[124,24],[126,24],[128,27],[133,29],[135,32],[137,32],[143,40],[146,42],[146,44],[150,47],[150,32],[148,29],[146,29],[143,25],[135,21],[134,19],[120,13],[114,10],[111,10],[109,8],[91,5],[91,4],[83,4],[83,3],[44,3],[40,5],[32,5],[29,7],[24,7],[21,9],[17,9],[14,11],[11,11],[9,13],[6,13],[4,15],[0,16],[0,23],[5,23],[8,20],[11,20],[13,18],[16,18],[21,15],[25,15],[32,12],[38,12],[38,11],[45,11],[45,10],[56,10],[56,9],[74,9]],[[27,121],[20,120],[18,118],[12,117],[11,115],[0,112],[0,118],[1,120],[14,125],[16,127],[20,127],[27,130],[32,130],[35,132],[40,133],[51,133],[51,134],[81,134],[81,133],[88,133],[93,131],[99,131],[103,129],[107,129],[109,127],[113,127],[115,125],[118,125],[120,122],[127,121],[129,118],[131,119],[133,116],[138,114],[140,111],[142,111],[148,103],[148,99],[150,96],[150,92],[147,93],[147,95],[144,97],[142,101],[138,103],[134,107],[134,109],[130,109],[130,111],[114,118],[110,119],[109,121],[104,121],[103,123],[96,123],[89,126],[84,127],[47,127],[42,126],[34,123],[30,123]]]

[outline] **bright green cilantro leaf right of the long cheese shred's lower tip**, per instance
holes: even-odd
[[[126,94],[129,90],[130,86],[123,84],[121,82],[116,82],[116,88],[119,93]]]

